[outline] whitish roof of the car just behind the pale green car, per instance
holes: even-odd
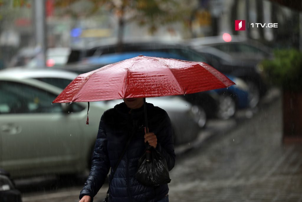
[[[0,71],[0,77],[9,77],[9,78],[66,78],[73,80],[78,75],[73,72],[61,70],[61,69],[52,69],[52,68],[43,68],[43,69],[26,69],[26,68],[8,68]]]

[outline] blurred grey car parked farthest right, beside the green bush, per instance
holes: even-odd
[[[212,66],[217,70],[246,81],[250,92],[250,107],[258,104],[268,87],[257,65],[264,58],[272,57],[270,48],[239,36],[232,36],[230,42],[224,41],[221,36],[214,36],[191,39],[188,44],[211,60]]]

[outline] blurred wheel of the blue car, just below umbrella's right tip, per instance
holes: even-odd
[[[230,94],[220,94],[218,99],[217,117],[229,119],[236,112],[236,101]]]

